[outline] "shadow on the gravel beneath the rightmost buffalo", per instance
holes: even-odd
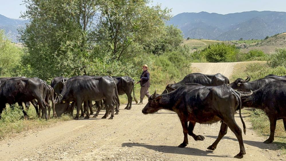
[[[218,138],[217,136],[206,136],[206,137],[209,137],[209,138]],[[228,136],[224,136],[222,139],[230,139],[230,140],[233,140],[233,141],[236,141],[237,142],[237,139],[236,138],[230,138]],[[265,139],[266,140],[266,139]],[[269,149],[269,147],[271,147],[272,150],[279,150],[281,149],[280,146],[274,146],[274,144],[278,143],[278,144],[283,144],[283,143],[280,143],[280,142],[275,142],[275,143],[271,143],[271,144],[264,144],[263,141],[261,142],[257,142],[257,141],[251,141],[251,140],[243,140],[243,143],[244,144],[247,144],[247,145],[250,145],[250,146],[255,146],[255,147],[258,147],[260,149]],[[238,143],[237,143],[238,144]],[[286,144],[282,145],[282,146],[286,146]]]

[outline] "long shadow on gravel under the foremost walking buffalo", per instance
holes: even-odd
[[[163,145],[149,145],[149,144],[140,144],[140,143],[123,143],[122,147],[144,147],[147,149],[151,149],[154,151],[162,152],[162,153],[171,153],[171,154],[185,154],[185,155],[192,155],[192,156],[213,156],[213,157],[223,157],[225,158],[226,156],[229,155],[210,155],[213,153],[213,151],[210,150],[200,150],[196,148],[190,148],[190,147],[185,147],[185,148],[178,148],[177,146],[163,146]]]

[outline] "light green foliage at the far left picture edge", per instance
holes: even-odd
[[[15,76],[22,54],[22,49],[13,45],[4,30],[0,30],[0,77]]]

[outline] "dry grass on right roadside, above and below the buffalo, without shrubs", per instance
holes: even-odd
[[[258,78],[263,78],[267,74],[276,72],[283,72],[281,68],[270,68],[267,66],[266,62],[255,62],[246,64],[246,62],[238,63],[234,66],[234,71],[230,77],[230,82],[233,82],[237,78],[246,78],[247,75],[250,75],[251,81]],[[282,73],[279,75],[283,75]],[[260,136],[269,137],[270,135],[270,125],[269,119],[265,115],[264,111],[256,110],[255,112],[244,110],[244,112],[249,114],[249,117],[246,117],[248,121],[251,122],[252,128]],[[275,138],[273,144],[277,144],[277,148],[282,150],[283,154],[286,154],[286,132],[282,120],[277,121]],[[265,139],[266,140],[266,139]]]

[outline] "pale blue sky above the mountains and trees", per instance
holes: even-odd
[[[0,14],[19,19],[26,7],[22,0],[0,0]],[[243,11],[286,11],[286,0],[153,0],[153,5],[172,9],[172,15],[183,12],[209,12],[228,14]]]

